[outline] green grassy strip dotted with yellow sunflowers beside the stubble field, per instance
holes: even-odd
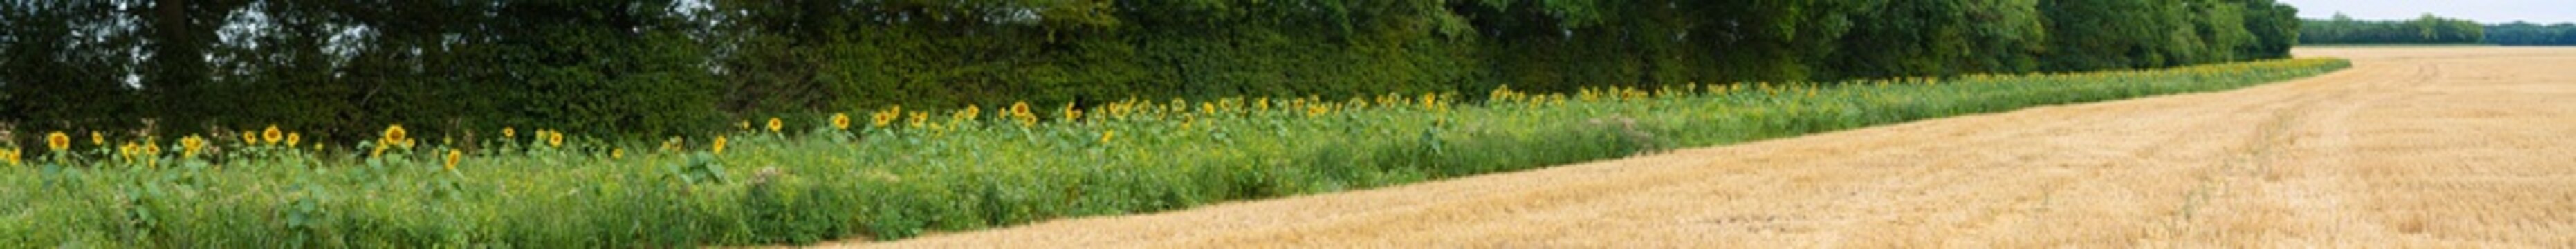
[[[224,141],[124,157],[44,149],[0,169],[0,244],[23,246],[698,246],[907,239],[1533,169],[1662,149],[2030,105],[2210,92],[2342,59],[1839,85],[1674,85],[1363,100],[1255,98],[876,110],[675,139],[500,139],[353,151]],[[884,123],[884,126],[878,126]],[[721,149],[716,139],[721,136]],[[152,141],[144,141],[147,149]],[[410,144],[384,146],[379,144]],[[471,146],[471,149],[469,149]],[[36,151],[36,149],[8,149]],[[451,169],[453,151],[456,162]],[[631,154],[629,154],[631,151]]]

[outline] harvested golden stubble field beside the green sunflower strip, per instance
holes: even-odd
[[[824,246],[2571,246],[2576,49]]]

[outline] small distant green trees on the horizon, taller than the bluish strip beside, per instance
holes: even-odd
[[[2424,15],[2416,21],[2306,21],[2298,44],[2481,44],[2486,26],[2463,18]]]

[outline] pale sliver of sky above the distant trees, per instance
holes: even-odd
[[[2362,21],[2401,21],[2424,13],[2478,23],[2576,23],[2576,0],[2280,0],[2298,5],[2300,18],[2344,13]]]

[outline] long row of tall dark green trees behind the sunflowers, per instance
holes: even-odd
[[[2287,56],[2272,0],[0,0],[0,126],[562,128]],[[26,136],[18,136],[26,139]]]

